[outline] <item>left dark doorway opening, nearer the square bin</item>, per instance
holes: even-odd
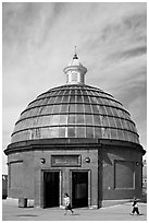
[[[44,208],[59,207],[59,172],[44,172]]]

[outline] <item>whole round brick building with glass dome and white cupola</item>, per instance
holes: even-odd
[[[129,113],[111,94],[86,85],[75,54],[66,84],[50,89],[22,111],[5,149],[9,197],[20,207],[100,208],[141,196],[142,155]]]

